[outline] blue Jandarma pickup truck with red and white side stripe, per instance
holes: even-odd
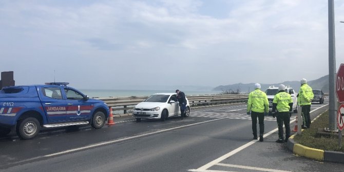
[[[0,135],[14,130],[22,139],[32,139],[41,127],[91,124],[102,128],[109,107],[89,99],[69,83],[11,86],[0,90]]]

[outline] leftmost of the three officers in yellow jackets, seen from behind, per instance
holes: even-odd
[[[265,92],[260,90],[260,84],[255,84],[255,90],[249,94],[247,101],[247,114],[251,114],[253,139],[257,140],[257,117],[259,120],[259,141],[263,141],[264,113],[269,112],[269,102]],[[251,112],[251,113],[250,113]]]

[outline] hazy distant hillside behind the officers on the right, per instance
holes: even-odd
[[[241,92],[251,92],[254,90],[254,84],[255,83],[249,83],[249,84],[232,84],[232,85],[220,85],[215,87],[213,90],[214,91],[225,91],[225,90],[233,90],[233,91],[241,91]],[[269,88],[269,86],[276,86],[284,84],[285,86],[291,86],[294,88],[294,90],[299,91],[300,89],[300,81],[285,81],[282,83],[275,83],[275,84],[262,84],[261,85],[261,90],[265,90]],[[329,92],[329,75],[326,75],[324,77],[321,77],[317,80],[313,81],[308,81],[308,84],[313,88],[313,89],[322,89],[323,92]]]

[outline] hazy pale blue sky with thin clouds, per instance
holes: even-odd
[[[344,63],[344,1],[334,1]],[[16,85],[125,89],[315,80],[328,69],[324,0],[0,0],[0,71]]]

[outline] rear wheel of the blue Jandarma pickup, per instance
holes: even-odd
[[[40,130],[40,122],[33,117],[25,118],[19,121],[16,127],[17,135],[24,140],[34,138],[36,135],[38,135]]]

